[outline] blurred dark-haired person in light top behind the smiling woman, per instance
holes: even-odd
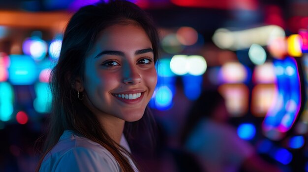
[[[228,124],[225,100],[217,90],[204,90],[188,112],[180,140],[204,172],[281,172]]]

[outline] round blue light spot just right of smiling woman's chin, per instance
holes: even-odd
[[[165,109],[172,103],[173,94],[167,86],[161,86],[156,90],[155,105],[157,109]]]

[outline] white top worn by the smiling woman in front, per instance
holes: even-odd
[[[123,135],[120,145],[130,152]],[[138,172],[131,158],[126,158]],[[121,168],[105,147],[65,130],[57,145],[44,157],[39,172],[121,172]]]

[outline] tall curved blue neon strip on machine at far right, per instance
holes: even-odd
[[[301,106],[301,86],[294,58],[275,60],[274,66],[278,69],[277,95],[266,114],[262,128],[268,138],[279,140],[297,119]]]

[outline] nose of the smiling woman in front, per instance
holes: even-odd
[[[138,69],[132,65],[125,65],[123,70],[123,83],[135,85],[140,82],[141,76]]]

